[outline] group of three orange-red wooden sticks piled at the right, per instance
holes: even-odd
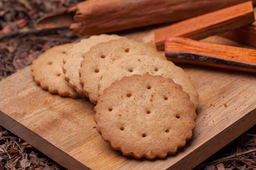
[[[256,73],[255,49],[196,41],[222,33],[226,38],[255,46],[254,25],[252,2],[245,2],[157,29],[155,43],[159,50],[165,49],[166,57],[173,62]]]

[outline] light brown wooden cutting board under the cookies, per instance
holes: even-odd
[[[150,43],[152,35],[128,37]],[[94,105],[88,99],[51,95],[35,84],[29,67],[0,81],[0,125],[69,170],[190,170],[256,124],[256,75],[180,66],[200,95],[197,127],[193,139],[166,159],[137,160],[113,150],[94,128]]]

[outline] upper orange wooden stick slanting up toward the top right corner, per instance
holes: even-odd
[[[200,40],[252,22],[254,22],[252,2],[245,2],[157,29],[155,44],[158,50],[162,50],[166,37],[182,36]]]

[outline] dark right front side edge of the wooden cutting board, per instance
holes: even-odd
[[[229,144],[231,141],[242,135],[244,132],[249,130],[249,128],[252,128],[255,125],[255,122],[256,108],[247,113],[241,119],[231,124],[229,127],[223,129],[220,133],[218,133],[218,135],[214,136],[213,138],[209,139],[206,143],[193,150],[193,152],[191,152],[189,155],[186,155],[177,163],[173,164],[173,166],[167,168],[167,170],[191,170],[195,168],[198,164],[202,163],[211,155],[216,153],[218,150],[220,150],[221,148]],[[209,147],[210,145],[212,145],[213,141],[215,141],[215,147]],[[201,157],[195,157],[195,155],[201,155]]]

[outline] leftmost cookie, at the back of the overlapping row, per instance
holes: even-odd
[[[80,97],[64,78],[63,57],[73,44],[54,46],[41,54],[31,65],[35,82],[50,93],[72,98]]]

